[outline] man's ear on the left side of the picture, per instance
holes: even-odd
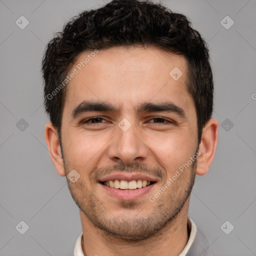
[[[57,130],[51,122],[45,125],[44,137],[48,146],[52,163],[60,176],[65,176],[63,158],[61,155],[60,144],[58,140]]]

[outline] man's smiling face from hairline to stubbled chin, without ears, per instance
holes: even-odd
[[[150,237],[180,211],[194,181],[196,161],[187,162],[197,149],[197,126],[186,62],[157,48],[113,47],[99,50],[81,70],[73,67],[78,73],[67,85],[61,126],[65,173],[80,175],[74,183],[67,179],[71,195],[101,230],[127,240]],[[182,71],[178,79],[178,69],[169,74],[174,67]],[[116,111],[85,111],[85,101]],[[147,103],[170,107],[141,108]],[[110,187],[114,180],[133,189]],[[137,180],[151,182],[135,188],[145,183]]]

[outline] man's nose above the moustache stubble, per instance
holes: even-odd
[[[135,124],[126,131],[116,127],[117,134],[110,140],[108,146],[108,157],[122,164],[131,164],[134,161],[142,161],[147,157],[148,149]]]

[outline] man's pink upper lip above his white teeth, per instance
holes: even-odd
[[[107,181],[107,180],[126,180],[126,181],[131,181],[131,180],[147,180],[147,181],[157,181],[158,178],[151,177],[146,174],[141,174],[141,173],[112,173],[110,175],[103,176],[99,179],[99,182]]]

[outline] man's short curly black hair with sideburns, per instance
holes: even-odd
[[[84,50],[113,46],[155,46],[184,56],[187,91],[194,101],[198,143],[212,115],[213,79],[208,47],[188,18],[150,0],[112,0],[74,16],[49,41],[42,59],[44,105],[60,136],[66,86],[50,96]]]

